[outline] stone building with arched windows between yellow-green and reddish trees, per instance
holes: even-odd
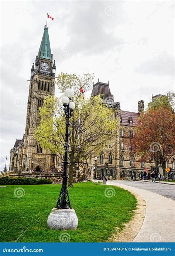
[[[138,112],[124,111],[120,109],[120,103],[114,102],[114,97],[110,92],[109,82],[97,82],[93,85],[92,96],[102,94],[102,99],[106,106],[113,108],[113,118],[119,120],[119,128],[114,134],[107,147],[97,155],[96,173],[97,178],[102,174],[108,180],[120,179],[123,175],[124,179],[129,180],[133,176],[138,178],[140,173],[144,173],[145,168],[149,171],[159,171],[162,168],[158,166],[157,161],[152,159],[149,162],[141,162],[140,155],[136,154],[135,148],[130,145],[131,139],[135,136],[134,128],[141,112],[144,111],[144,101],[138,102]],[[154,96],[156,97],[156,96]],[[152,98],[154,98],[152,97]],[[174,158],[167,163],[167,167],[173,172]],[[88,159],[89,177],[92,179],[95,175],[95,155]]]

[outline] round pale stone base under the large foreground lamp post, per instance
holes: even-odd
[[[75,210],[53,208],[47,219],[47,226],[58,230],[77,229],[78,218]]]

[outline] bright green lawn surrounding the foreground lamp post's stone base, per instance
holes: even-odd
[[[62,233],[69,234],[70,242],[104,242],[115,227],[118,232],[123,229],[137,205],[137,199],[122,188],[78,183],[69,189],[78,229],[51,230],[47,228],[47,218],[56,205],[61,185],[6,186],[0,188],[0,242],[60,242]],[[14,196],[18,187],[24,189],[23,197]],[[116,195],[106,197],[106,188],[113,188]]]

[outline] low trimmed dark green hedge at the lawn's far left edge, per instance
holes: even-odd
[[[1,185],[39,185],[52,184],[52,181],[40,178],[0,178]]]

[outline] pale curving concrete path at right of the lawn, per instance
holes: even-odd
[[[167,197],[147,190],[107,181],[114,185],[134,191],[146,202],[143,225],[133,242],[175,242],[175,202]],[[160,184],[160,189],[163,184]]]

